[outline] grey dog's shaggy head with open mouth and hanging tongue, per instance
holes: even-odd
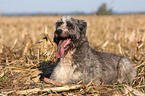
[[[56,22],[54,42],[57,44],[56,57],[63,57],[68,50],[76,48],[80,41],[85,38],[87,23],[71,17],[63,17]]]

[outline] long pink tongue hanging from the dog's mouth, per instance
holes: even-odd
[[[61,58],[64,54],[64,47],[66,47],[70,41],[67,40],[60,40],[59,45],[57,46],[56,57]]]

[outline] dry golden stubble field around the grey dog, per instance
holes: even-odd
[[[95,50],[123,55],[133,62],[138,76],[130,86],[144,93],[145,15],[72,17],[87,22],[88,41]],[[0,17],[0,94],[17,95],[20,90],[48,86],[39,81],[40,71],[37,68],[45,67],[48,60],[55,61],[56,46],[51,40],[55,22],[60,18],[61,16]],[[114,88],[118,90],[122,87]],[[80,91],[70,93],[84,94]],[[96,91],[92,94],[101,93]]]

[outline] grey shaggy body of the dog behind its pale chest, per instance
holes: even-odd
[[[113,84],[117,81],[125,83],[132,82],[136,76],[136,70],[127,58],[94,51],[88,44],[78,48],[73,58],[74,65],[77,65],[76,70],[82,72],[81,80],[86,83],[92,79],[95,83],[102,80],[103,84]]]

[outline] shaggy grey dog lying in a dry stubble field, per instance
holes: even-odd
[[[56,22],[58,62],[50,78],[63,84],[91,80],[96,84],[132,82],[136,76],[133,64],[123,56],[94,51],[89,46],[86,27],[84,20],[70,17]]]

